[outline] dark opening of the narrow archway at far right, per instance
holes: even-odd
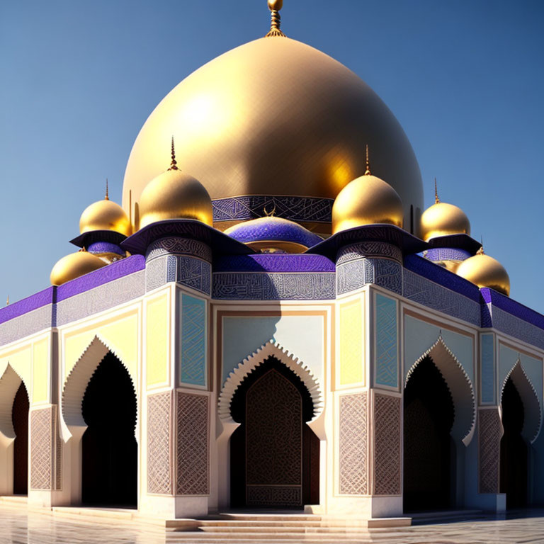
[[[523,402],[511,378],[502,394],[501,480],[500,491],[506,493],[506,508],[527,506],[527,445],[521,430],[525,415]]]

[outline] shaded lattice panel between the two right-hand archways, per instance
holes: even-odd
[[[480,449],[480,493],[499,492],[499,467],[502,425],[497,408],[479,412],[478,446]]]

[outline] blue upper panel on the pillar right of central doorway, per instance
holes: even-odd
[[[397,387],[397,302],[376,293],[376,384]]]

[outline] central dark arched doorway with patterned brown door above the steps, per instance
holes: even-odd
[[[319,438],[302,380],[270,357],[234,393],[231,414],[241,423],[230,441],[231,506],[319,504]]]

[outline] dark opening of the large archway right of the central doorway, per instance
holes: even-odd
[[[432,359],[424,358],[404,389],[404,511],[453,506],[454,415],[446,381]]]

